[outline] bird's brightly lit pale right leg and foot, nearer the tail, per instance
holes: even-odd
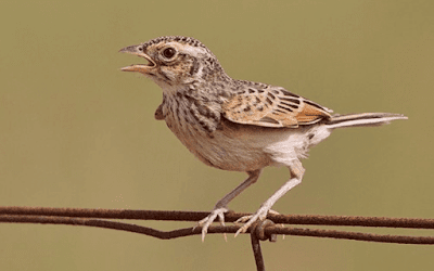
[[[246,218],[242,217],[235,221],[237,223],[246,221],[248,219],[248,221],[237,231],[235,237],[238,234],[246,232],[247,229],[257,220],[266,219],[268,211],[271,209],[275,203],[279,201],[279,198],[281,198],[288,191],[302,182],[302,178],[305,172],[302,163],[299,160],[293,162],[293,164],[289,166],[289,169],[291,172],[291,179],[285,184],[283,184],[278,191],[275,192],[275,194],[265,201],[253,216],[248,216]]]

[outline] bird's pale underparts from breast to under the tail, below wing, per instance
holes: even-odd
[[[174,114],[166,116],[166,122],[182,144],[203,163],[233,171],[289,166],[294,159],[306,157],[309,146],[330,134],[324,126],[267,128],[226,119],[219,129],[208,134],[199,125],[191,125]],[[311,134],[315,134],[314,138],[309,137]]]

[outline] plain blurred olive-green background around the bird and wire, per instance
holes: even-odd
[[[245,173],[204,166],[154,119],[156,85],[119,72],[142,62],[120,48],[183,35],[234,78],[336,113],[409,117],[335,131],[276,210],[434,218],[433,10],[433,1],[1,1],[0,205],[205,211],[238,185]],[[230,208],[254,211],[288,178],[266,169]],[[434,255],[432,246],[291,236],[263,250],[268,270],[431,270]],[[201,243],[0,224],[0,270],[254,269],[248,235]]]

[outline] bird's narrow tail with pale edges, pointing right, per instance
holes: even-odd
[[[330,129],[344,127],[372,127],[387,125],[395,119],[407,119],[403,114],[393,113],[361,113],[348,115],[334,115],[327,122]]]

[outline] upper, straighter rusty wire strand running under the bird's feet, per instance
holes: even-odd
[[[52,208],[0,206],[0,215],[56,216],[107,219],[170,220],[197,221],[209,215],[208,211],[176,210],[129,210],[129,209],[88,209],[88,208]],[[234,222],[243,216],[252,214],[228,211],[225,221]],[[386,218],[386,217],[348,217],[319,215],[268,215],[275,223],[317,224],[317,225],[355,225],[384,228],[434,229],[434,219],[422,218]]]

